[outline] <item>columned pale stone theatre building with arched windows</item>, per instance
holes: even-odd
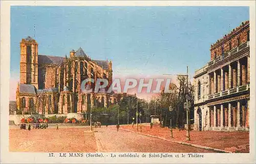
[[[210,46],[210,61],[196,70],[195,130],[249,130],[249,21]]]

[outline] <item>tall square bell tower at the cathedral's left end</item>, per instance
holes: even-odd
[[[31,37],[20,42],[20,84],[38,89],[38,44]]]

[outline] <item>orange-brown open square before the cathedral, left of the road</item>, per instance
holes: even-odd
[[[93,133],[86,128],[9,129],[9,150],[22,152],[96,152]]]

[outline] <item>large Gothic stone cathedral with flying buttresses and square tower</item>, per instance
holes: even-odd
[[[108,107],[120,94],[81,92],[86,78],[105,78],[112,84],[112,62],[92,60],[80,47],[69,57],[38,55],[31,37],[20,42],[20,83],[16,90],[17,114],[82,114],[91,107]],[[94,83],[88,83],[94,89]]]

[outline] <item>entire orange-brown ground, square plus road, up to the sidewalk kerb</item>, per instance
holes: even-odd
[[[10,151],[23,152],[212,152],[191,146],[167,142],[126,131],[115,126],[94,128],[53,126],[47,129],[9,129]]]

